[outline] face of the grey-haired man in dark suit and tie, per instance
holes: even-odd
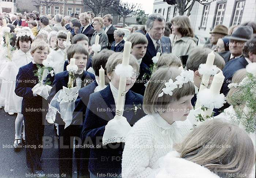
[[[165,31],[165,22],[155,20],[153,23],[153,27],[148,31],[148,33],[154,40],[159,40],[163,36],[164,31]]]

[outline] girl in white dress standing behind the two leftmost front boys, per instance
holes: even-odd
[[[67,39],[67,32],[64,30],[60,30],[57,33],[57,47],[52,50],[49,54],[51,56],[51,60],[55,62],[53,67],[54,73],[57,74],[59,72],[63,72],[64,63],[67,59],[67,55],[65,55],[66,45],[63,43]]]

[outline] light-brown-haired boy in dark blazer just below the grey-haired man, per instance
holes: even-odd
[[[131,90],[135,93],[144,95],[146,89],[145,84],[151,76],[150,66],[147,66],[147,64],[142,61],[142,58],[147,51],[148,41],[145,35],[138,32],[129,35],[127,41],[132,43],[131,54],[137,59],[137,62],[140,65],[140,75]]]

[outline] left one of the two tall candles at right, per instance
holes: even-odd
[[[206,60],[206,65],[208,66],[208,68],[212,67],[212,65],[214,63],[214,58],[215,58],[215,54],[212,51],[208,54],[207,60]],[[210,75],[205,74],[202,76],[202,81],[200,84],[199,92],[202,91],[203,89],[207,88],[206,86],[208,86],[209,79],[210,79]],[[201,103],[197,100],[195,109],[199,108],[200,106],[201,106]]]

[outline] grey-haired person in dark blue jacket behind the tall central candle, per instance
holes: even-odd
[[[124,51],[124,32],[120,29],[114,31],[115,41],[111,44],[111,50],[114,52],[123,52]]]

